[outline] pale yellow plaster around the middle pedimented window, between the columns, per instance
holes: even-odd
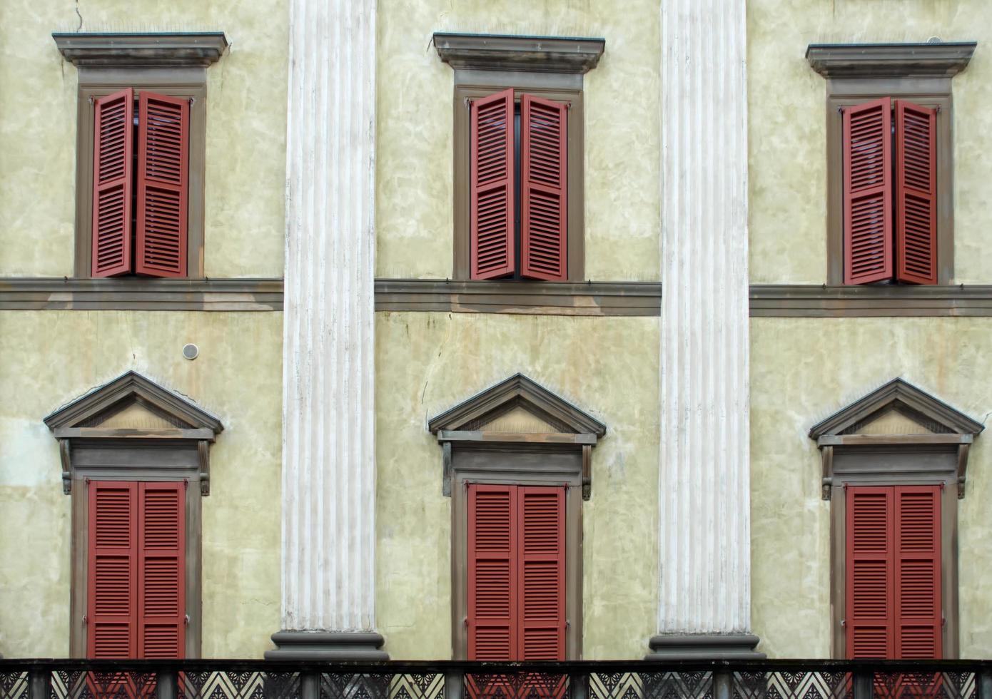
[[[376,617],[390,655],[451,656],[451,501],[427,421],[523,372],[607,425],[583,503],[583,656],[642,657],[657,596],[657,318],[379,313],[376,331]]]

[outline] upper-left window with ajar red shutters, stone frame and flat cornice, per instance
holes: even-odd
[[[205,68],[226,38],[53,38],[78,68],[73,276],[202,278]]]

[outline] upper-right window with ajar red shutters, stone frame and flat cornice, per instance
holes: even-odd
[[[827,284],[950,284],[951,78],[974,43],[810,45],[826,79]]]

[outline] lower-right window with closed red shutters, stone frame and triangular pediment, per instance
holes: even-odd
[[[982,425],[901,379],[813,426],[834,657],[957,656],[957,500]]]

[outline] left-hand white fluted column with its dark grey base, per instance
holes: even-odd
[[[375,0],[292,0],[283,610],[267,657],[385,657],[375,634]]]

